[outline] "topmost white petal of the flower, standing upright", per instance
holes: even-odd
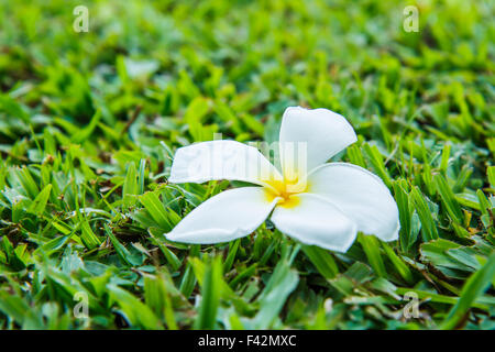
[[[327,109],[289,107],[282,117],[279,150],[284,175],[306,175],[315,167],[358,141],[344,117]],[[290,176],[289,176],[290,177]]]

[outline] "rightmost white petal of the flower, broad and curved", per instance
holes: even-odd
[[[330,163],[308,176],[308,193],[326,197],[358,224],[383,241],[397,240],[397,204],[382,179],[360,166]]]

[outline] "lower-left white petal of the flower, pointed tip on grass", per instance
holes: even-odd
[[[235,240],[256,230],[277,200],[268,199],[263,187],[229,189],[199,205],[165,237],[205,244]]]

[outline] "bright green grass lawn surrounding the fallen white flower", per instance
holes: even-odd
[[[418,2],[417,33],[409,2],[194,3],[0,1],[0,329],[494,329],[493,1]],[[349,119],[399,241],[167,242],[230,186],[168,184],[175,148],[294,105]]]

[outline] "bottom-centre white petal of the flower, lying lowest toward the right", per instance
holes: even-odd
[[[354,242],[356,226],[337,207],[315,195],[293,196],[292,207],[275,208],[272,221],[283,233],[306,244],[345,252]]]

